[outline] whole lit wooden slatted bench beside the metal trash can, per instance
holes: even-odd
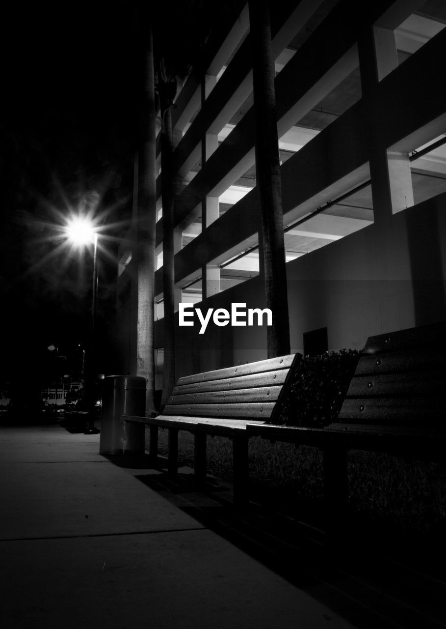
[[[281,400],[291,374],[302,355],[227,367],[178,379],[163,413],[155,418],[124,416],[150,426],[150,457],[158,455],[158,427],[168,429],[168,473],[178,472],[178,431],[194,435],[194,476],[206,479],[207,435],[232,439],[234,457],[234,504],[247,499],[247,423],[274,421],[281,412]]]

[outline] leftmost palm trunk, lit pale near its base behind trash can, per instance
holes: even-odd
[[[136,252],[138,263],[138,327],[136,374],[146,379],[146,415],[155,409],[155,365],[153,354],[156,225],[156,113],[153,35],[145,21],[143,42],[143,93],[138,142],[138,214]]]

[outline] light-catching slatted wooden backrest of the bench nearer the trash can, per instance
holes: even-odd
[[[163,415],[268,420],[301,354],[179,378]]]

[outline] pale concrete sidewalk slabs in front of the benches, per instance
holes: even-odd
[[[0,472],[5,629],[353,626],[99,455],[99,435],[0,426]]]

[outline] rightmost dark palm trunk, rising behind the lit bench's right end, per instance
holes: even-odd
[[[271,51],[269,1],[249,0],[256,114],[256,177],[261,201],[266,307],[273,313],[268,329],[268,358],[290,353],[285,243],[277,135],[275,66]]]

